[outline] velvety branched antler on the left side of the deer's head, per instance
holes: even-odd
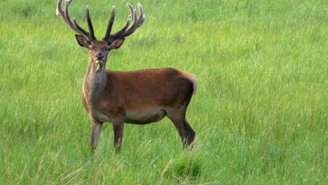
[[[86,38],[88,41],[96,40],[95,32],[93,31],[93,22],[91,22],[91,18],[90,18],[89,6],[86,7],[86,18],[87,18],[88,28],[89,28],[90,33],[87,32],[86,29],[83,29],[82,27],[80,27],[80,25],[78,25],[78,23],[76,22],[75,18],[73,18],[73,22],[71,21],[71,18],[69,17],[69,5],[71,4],[72,1],[73,0],[66,1],[65,9],[63,11],[62,10],[62,0],[58,0],[56,14],[60,15],[60,17],[62,17],[62,20],[64,20],[64,22],[71,29],[73,29],[76,33],[78,33],[79,35]]]

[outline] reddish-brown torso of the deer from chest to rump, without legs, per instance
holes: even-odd
[[[196,87],[194,79],[173,68],[87,73],[83,105],[90,117],[100,122],[122,116],[125,123],[153,123],[164,118],[166,110],[189,104]]]

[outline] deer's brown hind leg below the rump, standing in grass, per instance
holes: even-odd
[[[191,128],[191,125],[186,121],[186,108],[167,110],[168,118],[173,122],[175,128],[179,132],[182,146],[186,149],[191,146],[193,139],[195,139],[196,132]]]

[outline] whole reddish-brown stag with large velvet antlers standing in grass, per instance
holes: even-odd
[[[89,52],[88,69],[83,79],[82,104],[92,123],[91,151],[95,151],[102,125],[111,123],[114,130],[114,149],[121,150],[125,123],[144,125],[155,123],[167,116],[175,125],[184,149],[192,146],[196,132],[186,121],[186,109],[196,93],[198,81],[195,75],[172,67],[139,69],[135,71],[111,71],[106,69],[111,50],[120,48],[127,36],[142,26],[146,16],[141,4],[139,16],[131,4],[125,26],[111,33],[116,8],[112,7],[107,30],[102,40],[97,40],[86,6],[88,31],[76,19],[71,20],[67,0],[57,1],[56,14],[76,32],[78,45]],[[132,24],[130,25],[130,20]]]

